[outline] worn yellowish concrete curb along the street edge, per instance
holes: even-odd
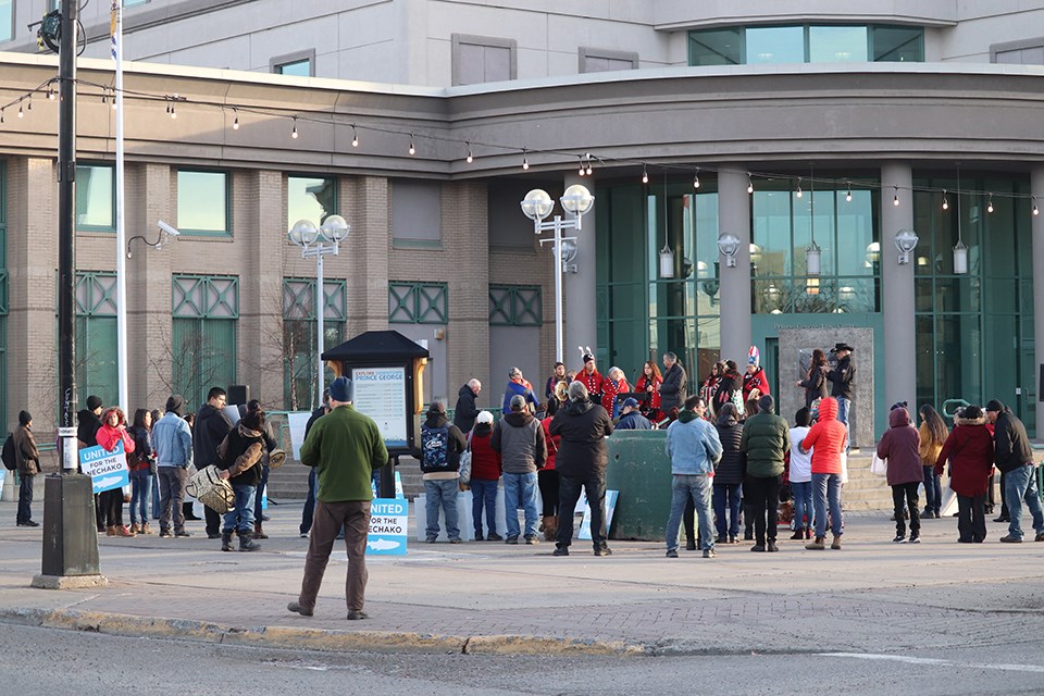
[[[3,609],[0,623],[126,637],[192,641],[248,647],[348,651],[458,652],[462,655],[652,655],[620,641],[581,641],[524,635],[453,636],[390,631],[339,631],[286,626],[233,626],[189,619],[134,617],[71,609]]]

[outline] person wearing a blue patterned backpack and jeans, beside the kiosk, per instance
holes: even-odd
[[[425,540],[438,538],[438,509],[446,515],[446,535],[450,544],[460,544],[457,526],[457,480],[460,477],[460,453],[468,440],[460,428],[446,418],[445,399],[432,399],[427,420],[421,425],[421,472],[424,474],[424,498],[427,510]]]

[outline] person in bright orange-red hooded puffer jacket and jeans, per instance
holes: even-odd
[[[841,517],[841,455],[845,451],[848,431],[837,420],[837,399],[819,402],[819,420],[799,443],[801,451],[812,452],[812,504],[816,509],[816,538],[807,549],[822,550],[826,538],[826,506],[830,505],[830,529],[834,534],[830,548],[841,548],[844,525]]]

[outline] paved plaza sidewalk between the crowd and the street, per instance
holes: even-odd
[[[272,538],[252,554],[221,552],[202,522],[187,539],[99,537],[110,586],[57,592],[29,587],[42,535],[15,527],[15,505],[0,502],[0,622],[320,650],[661,655],[965,645],[1009,639],[1044,613],[1032,533],[1003,545],[1007,525],[989,523],[985,544],[965,545],[956,520],[928,520],[922,544],[896,545],[887,513],[863,512],[846,517],[841,551],[782,540],[779,554],[741,544],[674,560],[642,542],[610,542],[608,558],[584,542],[568,558],[547,543],[413,545],[368,560],[361,622],[345,620],[337,550],[304,618],[286,611],[308,545],[300,505],[270,512]]]

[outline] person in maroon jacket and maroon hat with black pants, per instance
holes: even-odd
[[[910,412],[904,407],[888,413],[888,430],[878,443],[878,457],[888,460],[887,481],[892,486],[892,505],[895,508],[896,544],[906,542],[904,502],[910,510],[910,544],[919,544],[921,520],[918,517],[917,488],[924,478],[919,448],[921,436],[910,424]]]

